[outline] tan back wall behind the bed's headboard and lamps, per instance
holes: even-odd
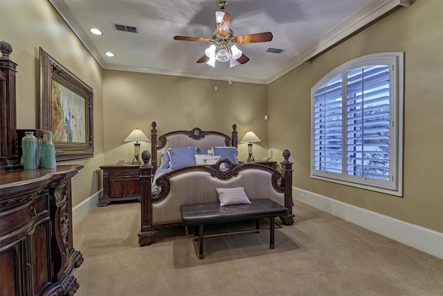
[[[158,135],[196,127],[230,134],[235,123],[239,140],[248,130],[262,140],[253,146],[256,159],[266,145],[266,85],[105,70],[103,87],[107,163],[132,159],[134,144],[123,140],[134,128],[150,137],[152,121]],[[141,143],[141,151],[150,147]],[[247,157],[240,144],[239,159]]]

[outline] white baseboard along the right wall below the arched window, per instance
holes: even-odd
[[[443,259],[443,234],[441,232],[435,232],[296,187],[293,187],[292,193],[294,200],[309,204],[311,207]],[[294,214],[297,215],[297,209],[294,209]]]

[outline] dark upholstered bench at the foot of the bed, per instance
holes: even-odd
[[[199,238],[199,259],[203,259],[204,225],[216,223],[230,223],[243,220],[255,220],[256,231],[260,229],[259,219],[271,220],[269,247],[274,248],[275,217],[286,216],[288,209],[270,200],[269,198],[251,200],[250,204],[230,204],[224,207],[219,202],[206,202],[201,204],[183,204],[181,218],[183,226],[196,227],[196,236]],[[236,233],[236,232],[233,232]],[[214,236],[214,235],[211,235]]]

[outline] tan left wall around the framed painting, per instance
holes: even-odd
[[[101,188],[103,164],[102,69],[46,0],[2,0],[0,40],[12,46],[17,62],[17,128],[39,128],[39,46],[93,88],[94,157],[59,164],[82,164],[73,178],[75,206]]]

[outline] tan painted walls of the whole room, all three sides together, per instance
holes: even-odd
[[[156,121],[159,134],[196,126],[229,133],[236,123],[240,138],[253,130],[262,139],[255,158],[265,144],[279,161],[282,149],[291,150],[294,186],[443,232],[440,0],[415,1],[267,87],[102,71],[48,1],[3,0],[1,7],[0,40],[10,42],[19,64],[17,128],[39,127],[39,46],[94,90],[94,157],[63,162],[85,166],[73,179],[74,205],[101,189],[100,165],[132,159],[133,145],[123,139],[133,128],[149,136]],[[309,177],[311,86],[348,60],[383,51],[406,53],[404,198]],[[246,146],[239,148],[239,158],[246,158]]]

